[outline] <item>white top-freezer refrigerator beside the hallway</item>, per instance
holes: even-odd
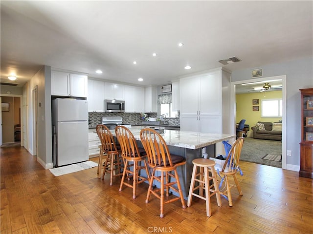
[[[55,167],[88,160],[87,100],[52,100],[52,131]]]

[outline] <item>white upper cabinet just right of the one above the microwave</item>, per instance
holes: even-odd
[[[125,112],[144,112],[144,88],[125,85]]]

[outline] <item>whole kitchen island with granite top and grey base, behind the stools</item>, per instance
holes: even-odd
[[[145,126],[133,126],[130,128],[135,139],[137,140],[139,147],[142,147],[140,142],[140,131],[144,127]],[[111,130],[111,132],[113,136],[115,136],[114,130]],[[236,135],[230,134],[212,134],[168,129],[165,129],[164,133],[162,133],[161,136],[164,138],[166,144],[168,145],[171,154],[180,155],[186,159],[186,164],[177,168],[181,183],[181,189],[185,199],[187,199],[188,197],[191,181],[193,169],[192,160],[195,158],[201,158],[202,151],[206,151],[208,157],[215,157],[216,143],[223,140],[236,138]],[[156,187],[159,187],[158,184],[155,185]],[[178,195],[176,193],[174,194]]]

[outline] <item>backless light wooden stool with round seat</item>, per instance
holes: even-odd
[[[189,196],[187,201],[187,206],[190,207],[192,196],[197,196],[206,203],[206,215],[211,216],[211,196],[216,195],[217,204],[219,207],[222,206],[221,196],[219,192],[219,185],[216,179],[216,172],[214,169],[215,162],[210,159],[197,158],[192,161],[194,168],[192,171]],[[199,168],[199,173],[197,172]],[[211,172],[211,176],[209,175]],[[197,178],[199,176],[199,178]],[[204,181],[203,181],[204,179]],[[213,180],[213,184],[210,186],[209,182]],[[195,182],[199,182],[199,185],[195,187]],[[194,191],[199,189],[199,195],[195,194]],[[205,195],[203,196],[203,189],[205,190]]]

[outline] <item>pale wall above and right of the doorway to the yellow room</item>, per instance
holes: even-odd
[[[301,141],[301,96],[299,89],[313,87],[313,57],[293,60],[285,63],[269,64],[256,67],[263,68],[263,78],[286,75],[286,136],[287,150],[292,151],[292,156],[287,156],[287,165],[300,165]],[[231,81],[251,79],[251,70],[234,71]],[[284,133],[283,133],[284,134]]]

